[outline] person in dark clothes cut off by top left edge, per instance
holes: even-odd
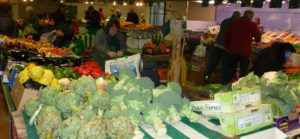
[[[0,2],[0,34],[17,38],[18,25],[12,16],[11,4],[9,2]]]

